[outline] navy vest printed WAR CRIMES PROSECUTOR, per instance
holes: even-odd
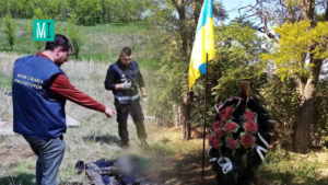
[[[34,138],[57,138],[66,132],[66,99],[50,91],[51,78],[65,72],[50,59],[26,56],[13,68],[13,130]]]

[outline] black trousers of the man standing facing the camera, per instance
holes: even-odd
[[[144,117],[139,100],[132,101],[129,104],[120,104],[115,101],[117,112],[118,134],[122,141],[129,140],[128,131],[128,115],[130,114],[137,128],[138,138],[142,141],[147,139],[144,129]]]

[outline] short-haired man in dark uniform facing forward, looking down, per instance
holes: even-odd
[[[140,105],[140,95],[147,97],[144,81],[136,61],[131,60],[131,49],[125,47],[121,49],[119,59],[109,66],[105,89],[113,91],[115,97],[115,107],[117,112],[118,134],[122,147],[128,147],[128,114],[131,115],[137,127],[137,134],[142,144],[147,144],[147,134],[144,129],[144,117]]]

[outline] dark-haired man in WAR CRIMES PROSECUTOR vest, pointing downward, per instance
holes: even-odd
[[[16,59],[13,68],[13,130],[23,135],[36,162],[36,184],[57,185],[57,174],[66,142],[65,104],[79,105],[112,117],[115,112],[77,90],[59,68],[72,47],[63,35],[47,42],[45,51]]]

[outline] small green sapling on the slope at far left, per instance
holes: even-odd
[[[5,35],[5,38],[10,45],[10,49],[13,50],[13,45],[16,42],[16,26],[14,21],[12,20],[12,15],[8,13],[4,18],[4,27],[3,27],[3,33]]]

